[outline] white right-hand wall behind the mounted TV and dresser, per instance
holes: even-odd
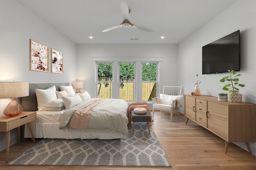
[[[256,1],[238,0],[226,10],[187,37],[178,45],[178,82],[184,86],[184,93],[190,94],[195,86],[196,74],[202,83],[202,94],[218,96],[225,92],[222,87],[225,83],[219,80],[228,76],[222,74],[202,75],[202,47],[224,37],[234,31],[240,30],[240,74],[239,82],[245,84],[240,88],[243,102],[256,103]],[[236,143],[246,148],[244,143]],[[252,152],[255,154],[255,143],[250,143]],[[247,149],[246,149],[247,150]]]

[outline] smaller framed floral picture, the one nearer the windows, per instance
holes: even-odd
[[[63,74],[63,53],[55,49],[52,53],[52,73]]]

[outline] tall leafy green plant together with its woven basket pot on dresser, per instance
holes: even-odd
[[[240,103],[242,102],[242,94],[238,93],[239,89],[237,88],[238,86],[244,87],[244,84],[239,84],[238,81],[239,79],[237,78],[238,76],[241,76],[242,74],[236,74],[236,71],[228,70],[230,76],[223,77],[220,82],[225,82],[228,81],[228,84],[226,84],[222,89],[227,90],[228,93],[228,102],[235,102],[235,103]],[[235,76],[234,76],[235,75]]]

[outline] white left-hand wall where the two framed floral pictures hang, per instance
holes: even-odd
[[[30,71],[30,39],[64,53],[63,74]],[[0,1],[0,81],[58,83],[76,80],[76,44],[32,14],[16,0]],[[0,99],[0,116],[10,99]],[[5,149],[5,132],[0,132],[0,150]],[[11,131],[10,145],[18,142]]]

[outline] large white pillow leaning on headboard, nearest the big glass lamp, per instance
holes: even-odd
[[[44,105],[57,99],[56,87],[52,86],[48,89],[36,89],[36,99],[38,111],[44,110]]]

